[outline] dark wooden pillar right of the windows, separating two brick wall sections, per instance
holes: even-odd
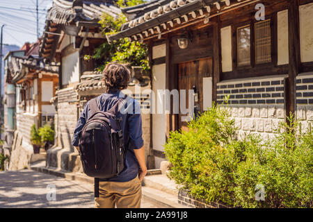
[[[299,33],[299,5],[298,0],[289,1],[288,6],[289,33],[289,74],[286,83],[286,114],[296,111],[296,76],[300,70],[300,33]]]

